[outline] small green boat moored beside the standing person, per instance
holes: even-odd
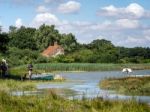
[[[53,74],[33,74],[31,80],[54,80]]]

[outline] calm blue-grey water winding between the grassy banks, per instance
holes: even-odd
[[[131,73],[131,75],[148,75],[150,70],[138,70]],[[37,88],[39,90],[57,88],[57,89],[70,89],[75,91],[72,95],[65,95],[68,98],[94,98],[94,97],[103,97],[104,99],[131,99],[134,98],[140,102],[150,103],[150,96],[126,96],[116,94],[113,91],[102,90],[99,88],[98,84],[101,80],[110,77],[124,77],[125,73],[120,71],[105,71],[105,72],[75,72],[75,73],[61,73],[63,77],[67,79],[64,83],[49,83],[49,84],[38,84]]]

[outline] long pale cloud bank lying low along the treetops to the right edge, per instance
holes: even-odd
[[[41,24],[55,25],[60,33],[73,33],[80,43],[89,43],[94,39],[104,38],[118,46],[150,47],[150,30],[144,29],[139,20],[118,19],[106,20],[101,23],[88,21],[61,20],[51,13],[40,13],[33,19],[32,25],[38,27]]]

